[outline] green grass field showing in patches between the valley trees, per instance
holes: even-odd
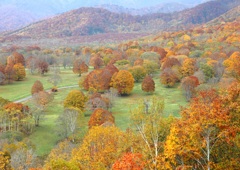
[[[30,95],[30,89],[32,84],[36,80],[40,80],[45,89],[51,88],[51,84],[47,82],[47,78],[50,73],[46,76],[39,75],[27,75],[24,81],[14,82],[10,85],[0,86],[1,94],[3,98],[9,100],[18,100]],[[78,83],[79,77],[72,73],[71,70],[62,70],[61,77],[62,83],[58,87],[75,85]],[[178,85],[174,88],[166,88],[159,82],[158,77],[154,77],[155,80],[155,92],[153,95],[161,96],[164,98],[165,109],[164,113],[166,116],[173,115],[179,117],[180,106],[186,106],[187,102],[182,95]],[[51,149],[57,144],[61,138],[57,134],[57,118],[64,111],[63,101],[68,93],[79,87],[70,89],[61,89],[54,95],[54,100],[49,104],[44,120],[40,122],[40,126],[36,127],[34,132],[29,136],[30,141],[36,146],[36,152],[39,156],[47,155]],[[122,130],[126,130],[130,127],[130,110],[137,106],[140,99],[150,98],[152,95],[145,93],[141,90],[141,83],[135,83],[134,89],[129,96],[118,97],[111,111],[115,117],[116,126]],[[25,102],[31,106],[31,102]],[[89,112],[86,114],[83,120],[81,129],[86,131],[88,120],[90,118]],[[81,130],[79,131],[81,132]],[[82,135],[82,134],[81,134]]]

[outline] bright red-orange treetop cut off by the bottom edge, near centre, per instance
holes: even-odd
[[[143,170],[145,166],[142,155],[139,153],[125,153],[112,166],[113,170]]]

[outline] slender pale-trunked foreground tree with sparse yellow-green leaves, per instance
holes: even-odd
[[[141,100],[138,107],[131,111],[132,125],[143,140],[145,145],[142,147],[155,169],[157,158],[163,152],[164,141],[170,133],[171,119],[163,117],[163,109],[164,100],[152,97],[149,100]]]

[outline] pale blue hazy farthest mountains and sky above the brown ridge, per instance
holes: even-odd
[[[204,0],[1,0],[0,32],[16,30],[35,21],[80,7],[101,6],[101,8],[108,9],[112,12],[144,15],[157,12],[169,13],[180,11],[189,7],[189,4],[193,6],[203,1]],[[118,4],[118,8],[116,8],[116,4]]]

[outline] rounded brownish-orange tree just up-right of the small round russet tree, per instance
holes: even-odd
[[[170,68],[163,70],[160,75],[160,82],[167,87],[173,87],[177,81],[178,77]]]

